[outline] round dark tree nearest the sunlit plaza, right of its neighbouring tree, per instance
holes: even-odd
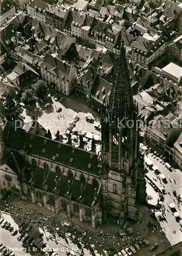
[[[44,82],[43,80],[38,80],[35,84],[33,84],[32,89],[37,98],[42,100],[46,99],[49,94],[46,82]]]

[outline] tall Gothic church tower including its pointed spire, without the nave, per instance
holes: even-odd
[[[140,175],[142,181],[138,182],[140,153],[137,114],[122,41],[115,62],[110,100],[102,108],[103,220],[114,217],[121,224],[128,218],[137,220],[137,201],[145,200],[143,170]],[[141,184],[144,196],[142,194],[140,200],[138,186]]]

